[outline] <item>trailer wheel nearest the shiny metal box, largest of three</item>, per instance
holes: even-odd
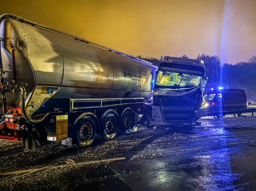
[[[78,118],[74,123],[74,136],[72,146],[85,148],[93,143],[96,135],[96,123],[91,116]]]

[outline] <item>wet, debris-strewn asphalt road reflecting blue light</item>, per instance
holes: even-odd
[[[0,190],[256,190],[256,116],[146,127],[87,149],[0,140]]]

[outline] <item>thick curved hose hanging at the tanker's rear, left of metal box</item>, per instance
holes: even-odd
[[[31,117],[29,117],[27,115],[26,108],[25,108],[26,90],[23,86],[18,86],[18,88],[21,89],[21,92],[19,94],[19,97],[21,98],[21,113],[22,113],[22,116],[25,118],[25,120],[28,123],[31,123],[31,124],[38,124],[41,121],[43,121],[45,119],[45,117],[47,117],[49,115],[50,111],[45,113],[41,118],[39,118],[37,120],[32,119]]]

